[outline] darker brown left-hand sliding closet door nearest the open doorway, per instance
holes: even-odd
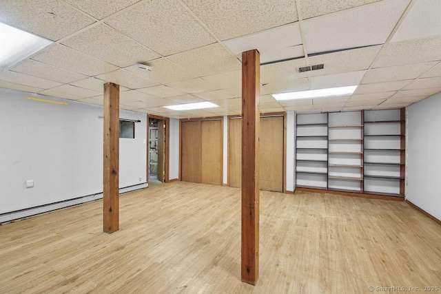
[[[202,182],[202,122],[182,123],[181,131],[181,178]]]

